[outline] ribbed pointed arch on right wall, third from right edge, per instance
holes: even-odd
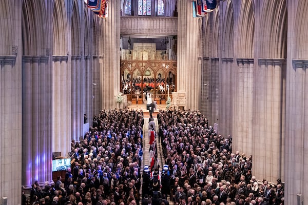
[[[254,56],[255,11],[252,0],[243,0],[239,17],[238,56]]]

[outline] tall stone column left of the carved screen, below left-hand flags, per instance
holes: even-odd
[[[120,8],[121,1],[109,1],[108,18],[100,19],[100,54],[104,56],[100,73],[102,109],[114,109],[114,96],[120,92]]]

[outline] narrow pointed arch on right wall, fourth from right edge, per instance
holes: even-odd
[[[234,45],[234,10],[232,2],[229,0],[224,17],[223,37],[222,37],[222,57],[233,57]]]

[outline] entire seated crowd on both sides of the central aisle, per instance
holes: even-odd
[[[252,156],[232,150],[232,137],[218,135],[197,111],[160,111],[154,164],[141,173],[142,111],[102,111],[90,132],[72,142],[72,169],[43,189],[34,183],[31,204],[93,205],[281,205],[284,186],[252,176]],[[146,131],[146,130],[145,130]],[[152,145],[155,145],[153,143]],[[151,161],[153,162],[153,161]],[[142,196],[139,190],[142,187]],[[25,203],[23,203],[24,205]]]

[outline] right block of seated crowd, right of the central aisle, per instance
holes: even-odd
[[[218,135],[200,112],[160,111],[158,120],[168,168],[161,180],[164,186],[169,181],[171,190],[161,190],[161,197],[169,195],[180,205],[283,204],[281,179],[274,186],[266,179],[259,185],[252,176],[252,156],[233,152],[232,137]]]

